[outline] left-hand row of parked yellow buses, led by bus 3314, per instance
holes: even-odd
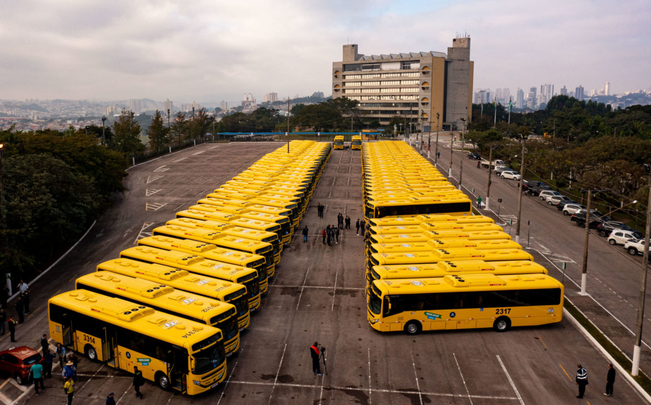
[[[328,143],[292,141],[177,212],[50,298],[51,337],[163,389],[215,387],[330,154]]]

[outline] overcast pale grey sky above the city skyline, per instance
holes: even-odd
[[[651,2],[3,1],[0,99],[262,101],[331,94],[342,45],[447,53],[471,36],[475,89],[651,87]]]

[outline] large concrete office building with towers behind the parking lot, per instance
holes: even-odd
[[[332,64],[332,96],[359,102],[368,120],[387,124],[393,117],[414,122],[425,132],[461,130],[472,119],[473,68],[470,37],[452,39],[442,52],[361,55],[344,45],[343,60]],[[407,124],[409,126],[409,124]]]

